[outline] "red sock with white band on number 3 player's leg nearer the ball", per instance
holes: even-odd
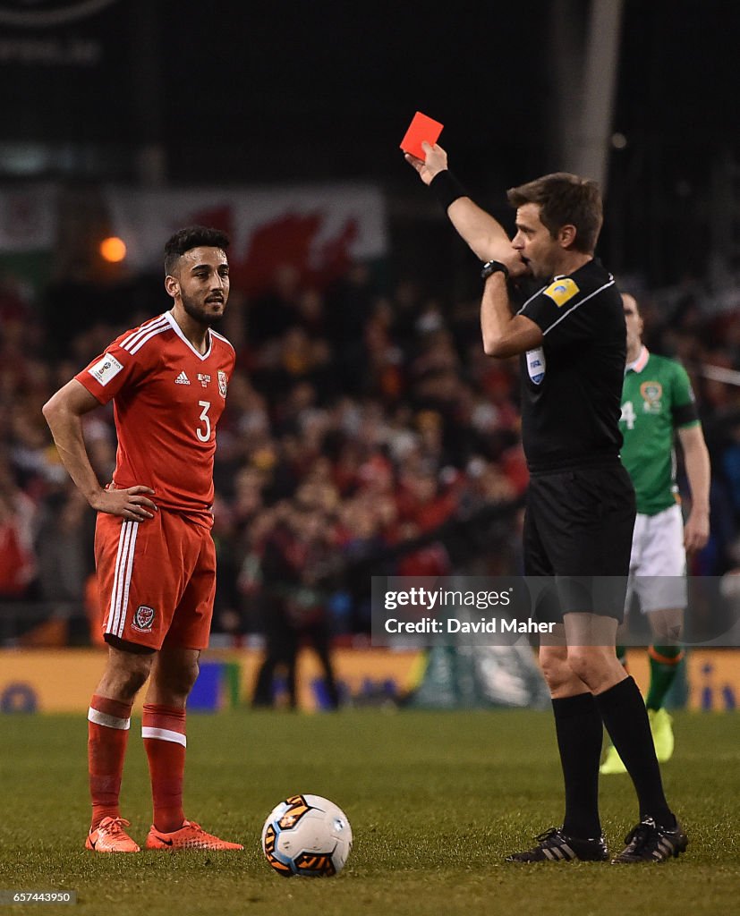
[[[145,703],[141,735],[147,748],[152,782],[154,826],[163,833],[179,830],[185,820],[182,782],[185,773],[185,710]]]

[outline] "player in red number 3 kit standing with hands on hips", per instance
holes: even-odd
[[[95,567],[108,660],[88,713],[93,819],[85,845],[138,852],[119,792],[136,694],[149,680],[142,736],[154,816],[147,849],[242,849],[185,819],[185,705],[208,645],[215,430],[234,348],[212,329],[229,296],[228,237],[190,226],[165,245],[174,305],[127,331],[49,399],[60,459],[97,510]],[[82,417],[114,401],[113,481],[102,486]]]

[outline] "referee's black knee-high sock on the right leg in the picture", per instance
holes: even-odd
[[[672,830],[676,819],[663,793],[647,709],[637,684],[627,677],[599,693],[595,702],[604,727],[635,783],[640,820],[652,817],[658,827]]]

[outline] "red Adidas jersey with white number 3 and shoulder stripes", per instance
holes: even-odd
[[[158,507],[210,527],[216,424],[234,370],[234,347],[209,330],[204,354],[171,312],[116,338],[75,376],[101,404],[114,399],[114,484],[154,490]]]

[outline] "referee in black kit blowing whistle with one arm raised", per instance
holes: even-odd
[[[550,687],[565,783],[560,827],[510,862],[604,861],[598,811],[603,725],[637,791],[639,823],[613,863],[660,862],[688,840],[663,793],[647,712],[615,655],[624,593],[595,604],[587,583],[626,582],[635,493],[619,450],[626,362],[625,317],[614,278],[594,259],[603,215],[598,187],[575,175],[547,175],[507,192],[517,210],[513,241],[448,169],[447,154],[423,144],[406,154],[464,242],[484,261],[481,329],[490,356],[520,354],[522,440],[530,473],[525,573],[554,577],[547,605],[557,625],[539,663]],[[510,289],[539,290],[515,312]],[[585,587],[584,583],[586,583]],[[539,607],[539,612],[542,611]]]

